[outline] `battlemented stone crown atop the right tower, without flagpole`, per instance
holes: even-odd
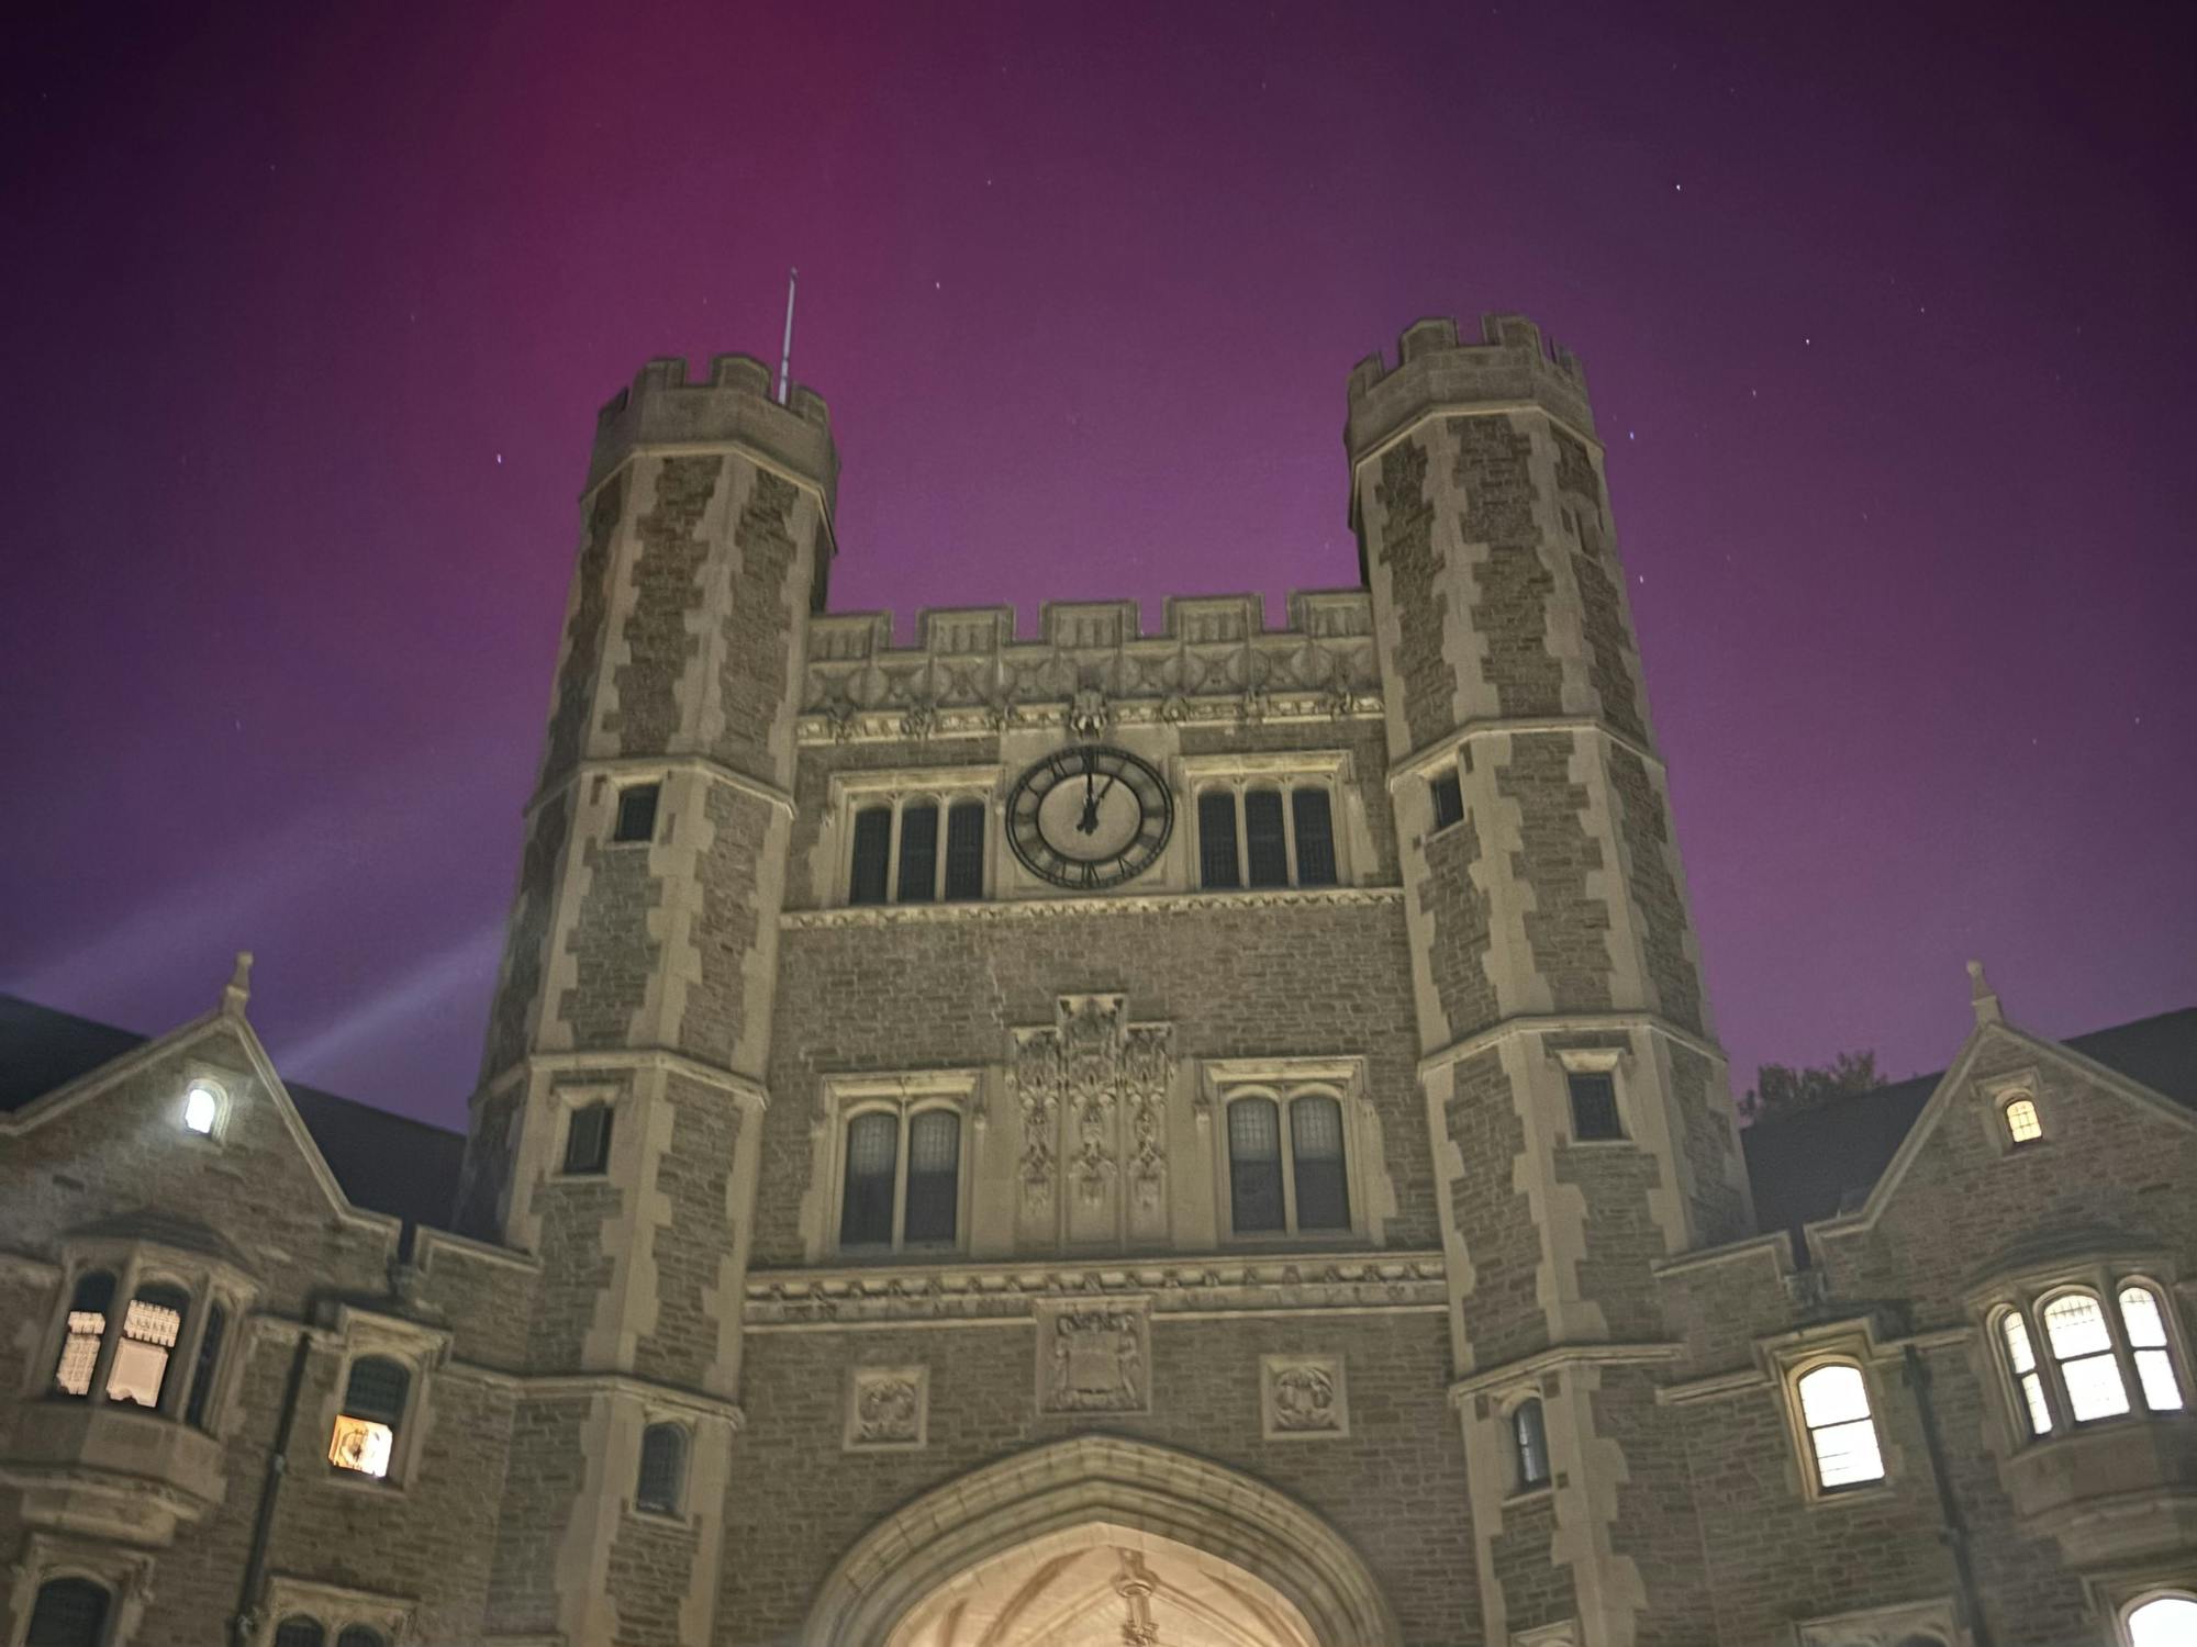
[[[1544,338],[1523,314],[1483,314],[1481,340],[1463,343],[1457,321],[1415,321],[1397,338],[1397,362],[1369,354],[1351,367],[1342,444],[1356,463],[1430,406],[1540,404],[1582,435],[1595,433],[1586,371],[1571,349]]]

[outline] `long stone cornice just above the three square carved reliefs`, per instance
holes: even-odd
[[[1017,1322],[1039,1300],[1147,1298],[1158,1318],[1448,1309],[1439,1252],[1303,1252],[1145,1263],[967,1263],[767,1269],[747,1278],[749,1331],[883,1322]]]

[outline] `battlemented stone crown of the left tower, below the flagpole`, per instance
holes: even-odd
[[[690,378],[683,356],[644,365],[595,413],[595,448],[587,466],[593,490],[642,446],[745,446],[824,490],[839,492],[839,448],[830,437],[824,395],[793,384],[787,404],[771,397],[771,369],[747,354],[710,358],[707,378]]]

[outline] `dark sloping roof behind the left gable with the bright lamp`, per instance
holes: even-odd
[[[125,1052],[143,1034],[0,995],[0,1113],[22,1109]],[[450,1228],[466,1135],[286,1080],[283,1089],[356,1206]]]

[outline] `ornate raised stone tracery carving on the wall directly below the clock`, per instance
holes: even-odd
[[[1129,1023],[1120,995],[1063,995],[1046,1030],[1015,1030],[1008,1087],[1022,1109],[1022,1203],[1052,1206],[1057,1118],[1074,1127],[1077,1199],[1105,1206],[1123,1159],[1116,1113],[1127,1118],[1127,1179],[1136,1206],[1167,1195],[1167,1091],[1175,1078],[1173,1026]]]

